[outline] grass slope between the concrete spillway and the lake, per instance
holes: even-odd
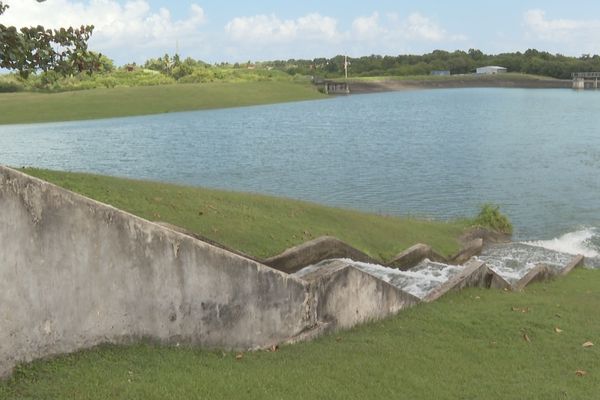
[[[381,216],[258,194],[107,176],[39,169],[24,172],[261,258],[322,235],[336,236],[381,260],[389,260],[417,242],[450,255],[458,250],[457,238],[469,224]]]

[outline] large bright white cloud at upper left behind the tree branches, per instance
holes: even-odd
[[[11,1],[0,17],[5,25],[43,25],[46,28],[94,25],[90,47],[107,52],[120,50],[130,55],[150,49],[174,48],[178,39],[201,40],[199,27],[204,10],[192,4],[185,19],[173,19],[166,8],[152,10],[145,0],[52,0],[43,3]]]

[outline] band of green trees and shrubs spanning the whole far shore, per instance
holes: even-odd
[[[53,70],[30,75],[0,76],[0,92],[65,91],[123,86],[165,85],[172,83],[290,81],[309,82],[311,78],[340,78],[344,57],[313,60],[265,61],[244,64],[207,64],[177,54],[147,60],[144,65],[128,64],[116,68],[105,56],[100,57],[98,71],[64,76]],[[501,65],[510,72],[539,77],[567,79],[572,72],[600,71],[600,56],[579,58],[550,54],[537,50],[524,53],[486,55],[479,50],[447,52],[436,50],[425,55],[378,56],[350,59],[350,77],[394,77],[422,79],[434,70],[449,70],[452,74],[470,74],[477,67]],[[436,77],[448,79],[448,77]]]

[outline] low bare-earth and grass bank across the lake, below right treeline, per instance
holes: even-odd
[[[527,75],[452,76],[423,79],[355,79],[350,80],[350,93],[380,93],[416,89],[455,88],[522,88],[522,89],[570,89],[571,80],[544,79]]]

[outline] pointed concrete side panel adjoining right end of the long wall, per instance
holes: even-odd
[[[381,319],[420,302],[343,261],[332,261],[303,279],[315,291],[318,320],[329,322],[332,329]]]

